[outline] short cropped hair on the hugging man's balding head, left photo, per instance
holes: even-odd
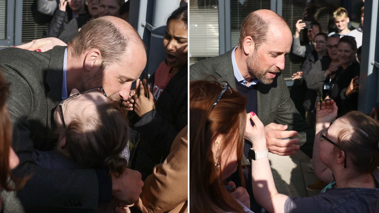
[[[122,22],[125,21],[122,20]],[[132,26],[125,22],[123,27],[128,33],[122,33],[109,16],[91,20],[81,27],[67,48],[73,57],[78,57],[91,48],[99,49],[102,56],[102,67],[106,69],[110,64],[120,63],[124,60],[124,53],[129,42],[135,42],[141,47],[145,47],[141,37]]]

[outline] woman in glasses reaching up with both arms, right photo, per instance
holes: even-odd
[[[331,100],[317,104],[313,167],[316,176],[331,182],[312,197],[288,197],[275,188],[269,160],[252,160],[254,197],[269,212],[377,212],[379,207],[379,123],[370,116],[352,111],[337,117]],[[257,116],[247,128],[254,151],[265,152],[264,127]],[[191,141],[192,142],[192,141]]]

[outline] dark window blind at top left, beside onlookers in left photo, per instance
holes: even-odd
[[[44,36],[52,16],[39,13],[37,0],[23,0],[22,3],[22,43]]]

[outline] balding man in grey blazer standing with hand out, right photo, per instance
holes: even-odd
[[[190,80],[199,80],[213,75],[246,96],[246,111],[254,111],[265,125],[270,152],[293,155],[301,149],[312,157],[315,132],[296,110],[280,72],[291,44],[292,35],[285,20],[273,11],[258,10],[243,21],[237,47],[191,65],[189,76]],[[288,137],[291,139],[281,139]],[[300,147],[299,142],[307,143]],[[248,152],[254,153],[249,148],[251,143],[245,141],[246,158]]]

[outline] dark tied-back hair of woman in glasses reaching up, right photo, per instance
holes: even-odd
[[[360,111],[340,118],[345,123],[338,132],[338,144],[359,172],[371,173],[379,166],[379,122]]]

